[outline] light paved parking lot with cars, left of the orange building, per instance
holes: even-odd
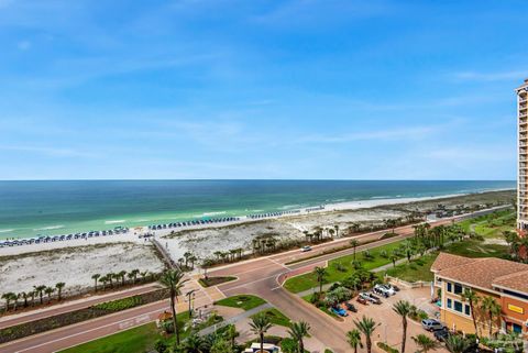
[[[362,305],[359,304],[355,299],[352,299],[351,302],[358,308],[358,312],[350,312],[346,318],[344,318],[345,324],[349,327],[349,330],[355,328],[353,321],[361,319],[362,316],[367,316],[374,319],[376,322],[381,323],[381,326],[376,329],[373,335],[374,342],[387,342],[388,345],[400,350],[402,344],[402,317],[398,316],[396,312],[393,311],[393,305],[398,300],[407,300],[410,304],[415,305],[418,309],[421,309],[429,313],[431,318],[433,318],[435,312],[437,309],[432,304],[430,304],[430,288],[415,288],[408,289],[405,287],[400,287],[400,291],[397,291],[396,295],[389,298],[383,298],[382,296],[377,296],[381,298],[381,305]],[[433,339],[432,333],[427,332],[421,328],[419,322],[413,321],[408,319],[407,326],[407,343],[406,343],[406,352],[416,352],[418,351],[418,346],[413,341],[411,337],[418,335],[420,333],[425,333],[431,339]],[[375,344],[375,343],[374,343]],[[375,348],[376,351],[383,352],[377,346]],[[446,349],[437,349],[437,352],[448,352]]]

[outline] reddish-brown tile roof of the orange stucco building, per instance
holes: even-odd
[[[493,289],[493,285],[496,284],[505,288],[528,293],[528,265],[526,264],[495,257],[468,258],[457,256],[465,258],[466,262],[463,263],[461,258],[453,256],[442,256],[438,263],[435,261],[433,266],[437,268],[437,275],[484,289]],[[431,269],[433,269],[432,266]]]

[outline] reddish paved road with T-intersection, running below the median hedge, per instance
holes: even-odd
[[[462,217],[454,217],[433,222],[435,225],[449,224],[453,221],[479,217],[490,213],[495,209],[477,211]],[[358,246],[356,251],[377,247],[384,244],[397,242],[413,236],[413,225],[396,229],[398,235],[380,240],[386,231],[365,233],[354,239],[367,244]],[[298,250],[276,255],[258,257],[241,263],[218,267],[209,272],[209,276],[235,276],[234,282],[229,282],[217,287],[200,290],[201,296],[196,298],[196,306],[206,306],[202,302],[212,302],[222,297],[230,297],[241,294],[258,296],[278,310],[284,312],[294,321],[305,320],[310,327],[314,337],[324,345],[331,348],[336,353],[349,352],[350,348],[345,339],[345,332],[351,328],[345,326],[321,310],[299,298],[295,294],[285,290],[282,285],[287,278],[311,272],[316,266],[326,266],[329,260],[353,253],[353,249],[338,251],[336,253],[322,254],[332,247],[340,247],[349,243],[351,238],[339,239],[329,243],[314,246],[312,252],[300,253]],[[299,261],[301,257],[310,257],[316,253],[322,255],[316,258],[289,264]],[[191,276],[193,284],[197,284],[199,275]],[[184,290],[185,291],[185,290]],[[178,310],[186,310],[187,304],[180,302]],[[105,335],[117,333],[135,326],[154,321],[157,315],[168,309],[166,300],[125,310],[116,315],[64,327],[42,334],[28,337],[18,341],[0,345],[0,353],[12,352],[55,352],[62,349],[81,344]]]

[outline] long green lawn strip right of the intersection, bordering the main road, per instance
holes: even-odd
[[[363,257],[362,253],[364,251],[361,251],[361,252],[358,251],[356,260],[361,262],[363,268],[365,269],[374,269],[380,266],[389,264],[391,258],[382,257],[380,255],[381,252],[385,251],[387,252],[387,254],[391,254],[391,252],[397,249],[400,244],[403,244],[403,242],[404,241],[399,241],[392,244],[371,249],[370,252],[371,252],[371,255],[373,256],[371,260],[365,260]],[[344,278],[352,275],[352,273],[354,272],[354,268],[352,267],[352,264],[351,264],[353,258],[354,258],[353,255],[346,255],[346,256],[342,256],[342,257],[330,261],[328,264],[328,268],[327,268],[328,275],[324,283],[334,283],[334,282],[343,280]],[[342,266],[342,269],[344,271],[338,269],[338,266]],[[318,286],[318,283],[316,280],[316,276],[312,273],[289,278],[284,284],[284,288],[286,288],[292,293],[300,293],[317,286]]]

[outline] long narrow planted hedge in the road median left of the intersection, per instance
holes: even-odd
[[[142,295],[102,302],[88,308],[4,328],[0,330],[0,344],[166,299],[168,296],[169,294],[167,289],[157,289]]]

